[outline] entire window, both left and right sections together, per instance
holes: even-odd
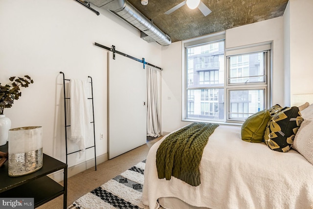
[[[242,122],[269,102],[270,44],[224,48],[224,35],[184,43],[183,119]]]

